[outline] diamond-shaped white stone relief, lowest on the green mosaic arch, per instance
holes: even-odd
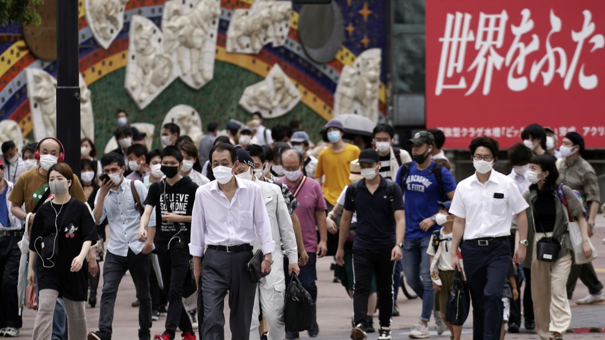
[[[240,105],[250,113],[258,111],[264,118],[275,118],[292,110],[301,98],[290,78],[275,64],[265,80],[244,90]]]

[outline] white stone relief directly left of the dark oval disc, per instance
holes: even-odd
[[[249,9],[237,9],[227,28],[228,52],[258,53],[266,44],[286,43],[292,18],[292,2],[257,0]]]

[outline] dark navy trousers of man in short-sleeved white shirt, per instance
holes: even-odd
[[[473,302],[473,339],[500,339],[504,305],[502,293],[511,259],[508,242],[489,246],[463,242],[464,272]]]

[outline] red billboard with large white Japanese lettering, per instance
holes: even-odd
[[[523,127],[605,148],[605,1],[427,0],[427,127],[446,148]]]

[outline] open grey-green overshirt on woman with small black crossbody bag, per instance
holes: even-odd
[[[555,197],[555,228],[552,232],[552,236],[557,237],[561,243],[561,251],[559,252],[559,258],[561,258],[567,255],[567,252],[569,252],[569,249],[571,249],[571,243],[569,242],[569,234],[567,234],[567,221],[565,220],[565,214],[563,212],[565,206],[563,206],[563,203],[561,203],[561,200],[559,200],[556,188],[552,189],[551,194]],[[572,189],[570,189],[569,186],[566,185],[563,186],[563,195],[565,196],[567,204],[569,205],[570,214],[573,216],[574,220],[577,220],[576,216],[584,212],[580,204],[580,200],[578,200],[578,197],[574,194]],[[534,204],[538,198],[537,187],[529,187],[529,190],[526,191],[525,194],[523,194],[523,198],[525,198],[525,200],[529,204],[529,208],[526,210],[528,215],[527,240],[529,242],[529,246],[527,247],[525,261],[523,261],[523,267],[529,268],[531,267],[531,261],[534,256],[534,238],[536,237],[536,233],[534,231],[534,219],[536,218],[534,212]],[[537,237],[541,238],[542,236],[540,235],[540,233],[538,233]]]

